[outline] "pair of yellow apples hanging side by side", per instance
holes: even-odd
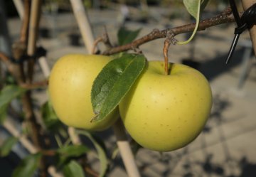
[[[103,55],[70,54],[60,58],[50,74],[49,94],[60,120],[71,127],[100,131],[119,117],[127,132],[145,148],[172,151],[200,134],[212,106],[206,78],[186,65],[149,61],[119,106],[101,122],[90,122],[90,93],[100,70],[112,60]]]

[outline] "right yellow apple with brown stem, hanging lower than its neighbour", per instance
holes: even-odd
[[[173,151],[201,133],[212,106],[208,80],[198,70],[181,64],[149,61],[119,104],[127,132],[141,146]]]

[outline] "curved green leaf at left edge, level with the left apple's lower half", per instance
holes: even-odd
[[[15,97],[23,94],[26,89],[18,87],[17,85],[7,85],[0,92],[0,123],[4,122],[6,117],[6,109],[8,108],[9,103]]]

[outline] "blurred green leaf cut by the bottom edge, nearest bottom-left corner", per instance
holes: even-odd
[[[12,177],[32,177],[39,166],[42,154],[30,154],[21,161],[12,173]]]

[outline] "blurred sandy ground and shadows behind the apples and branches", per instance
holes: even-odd
[[[238,1],[238,5],[241,5]],[[105,29],[113,45],[117,45],[120,27],[129,30],[141,29],[139,37],[153,31],[193,22],[182,1],[175,0],[94,0],[83,1],[95,38]],[[202,18],[220,14],[228,6],[226,1],[210,1]],[[14,1],[0,1],[0,50],[9,53],[8,45],[20,35],[21,20]],[[4,31],[4,18],[6,29]],[[188,146],[177,151],[159,154],[147,149],[137,151],[137,164],[143,176],[256,176],[256,60],[247,31],[242,33],[230,64],[225,58],[233,40],[235,23],[223,24],[199,31],[188,45],[174,45],[169,49],[169,58],[174,63],[184,63],[200,70],[210,81],[213,90],[213,109],[205,129]],[[190,36],[176,36],[180,41]],[[6,41],[6,39],[4,39]],[[38,44],[47,50],[48,64],[53,66],[60,56],[67,53],[87,53],[78,23],[75,21],[68,0],[43,1],[43,10],[38,34]],[[6,47],[7,46],[7,47]],[[140,47],[148,60],[164,60],[164,39],[145,43]],[[101,51],[104,45],[99,45]],[[41,68],[36,65],[36,79],[43,78]],[[33,98],[40,106],[48,96],[36,92]],[[9,133],[1,127],[1,142]],[[112,130],[99,133],[107,149],[112,149],[115,138]],[[0,173],[9,176],[27,152],[21,145],[4,158],[0,157]],[[93,156],[91,163],[99,165]],[[127,176],[122,160],[117,156],[111,162],[109,176]]]

